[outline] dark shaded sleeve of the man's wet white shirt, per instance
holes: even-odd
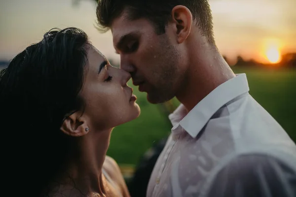
[[[220,170],[207,197],[296,197],[296,172],[266,155],[243,155]]]

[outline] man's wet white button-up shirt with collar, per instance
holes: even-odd
[[[296,145],[248,92],[239,74],[170,114],[147,197],[296,197]]]

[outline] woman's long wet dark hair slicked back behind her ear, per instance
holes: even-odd
[[[12,186],[17,195],[40,196],[67,165],[74,137],[60,127],[67,114],[84,105],[78,93],[88,44],[86,33],[77,28],[52,29],[0,71],[7,190]]]

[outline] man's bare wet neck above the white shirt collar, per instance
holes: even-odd
[[[218,52],[205,53],[203,59],[190,60],[185,85],[176,98],[189,112],[215,88],[233,77],[235,74]]]

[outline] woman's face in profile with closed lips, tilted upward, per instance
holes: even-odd
[[[89,129],[110,129],[137,118],[140,107],[132,88],[127,86],[130,73],[111,66],[92,45],[87,58],[80,96],[86,103],[83,115]]]

